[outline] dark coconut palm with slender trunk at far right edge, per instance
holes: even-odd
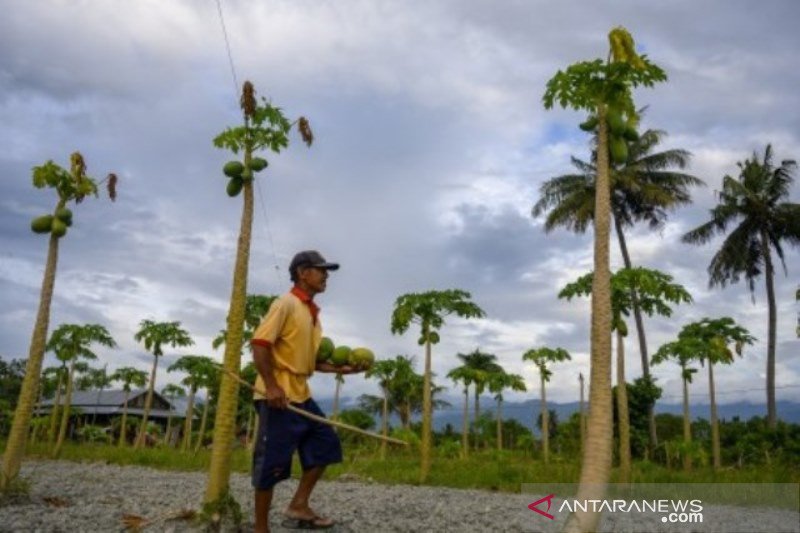
[[[781,260],[784,273],[786,262],[783,243],[800,244],[800,204],[789,200],[797,163],[784,160],[775,167],[772,146],[767,145],[759,160],[737,163],[739,176],[725,176],[719,204],[711,210],[711,220],[683,236],[683,241],[705,244],[715,235],[727,235],[708,265],[709,286],[725,287],[744,277],[751,294],[755,295],[756,279],[764,274],[769,307],[767,333],[767,422],[774,429],[777,422],[775,406],[775,336],[777,311],[775,307],[775,255]],[[755,296],[754,296],[755,298]]]

